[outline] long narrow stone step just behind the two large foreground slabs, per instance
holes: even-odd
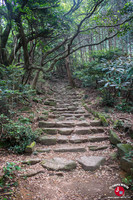
[[[53,150],[54,152],[85,152],[86,149],[83,147],[75,147],[75,146],[70,146],[70,147],[59,147]]]

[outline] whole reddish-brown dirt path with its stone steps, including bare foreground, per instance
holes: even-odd
[[[122,174],[111,156],[116,149],[110,145],[107,128],[86,112],[76,89],[55,83],[54,90],[53,97],[44,102],[45,108],[42,105],[38,127],[43,134],[33,154],[8,155],[9,162],[31,162],[21,165],[24,178],[19,178],[11,199],[131,199],[128,190],[122,197],[115,194],[113,185],[121,183]]]

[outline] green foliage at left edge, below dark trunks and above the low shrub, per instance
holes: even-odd
[[[0,114],[9,114],[18,103],[27,104],[34,94],[29,85],[21,83],[24,70],[16,66],[0,67]]]

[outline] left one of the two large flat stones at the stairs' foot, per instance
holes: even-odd
[[[44,168],[54,171],[71,171],[77,167],[76,162],[59,157],[55,157],[53,159],[44,159],[41,164]]]

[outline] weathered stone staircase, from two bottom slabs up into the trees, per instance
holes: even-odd
[[[88,114],[81,98],[75,89],[61,85],[53,98],[44,102],[44,114],[38,118],[43,134],[38,138],[36,151],[53,153],[52,158],[47,155],[47,159],[42,160],[44,168],[69,171],[81,165],[83,169],[93,171],[106,160],[109,148],[106,129],[100,120],[94,120]]]

